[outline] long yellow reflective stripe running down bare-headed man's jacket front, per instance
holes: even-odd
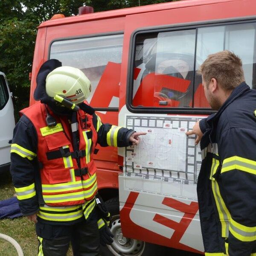
[[[212,192],[215,199],[215,204],[218,209],[219,218],[221,221],[221,236],[228,237],[228,229],[229,229],[229,220],[230,220],[230,212],[228,211],[218,187],[218,183],[215,180],[212,180]]]

